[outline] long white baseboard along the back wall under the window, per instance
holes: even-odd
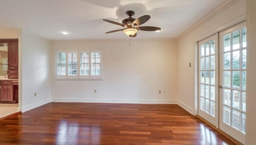
[[[52,102],[131,103],[131,104],[177,104],[178,100],[52,98]]]

